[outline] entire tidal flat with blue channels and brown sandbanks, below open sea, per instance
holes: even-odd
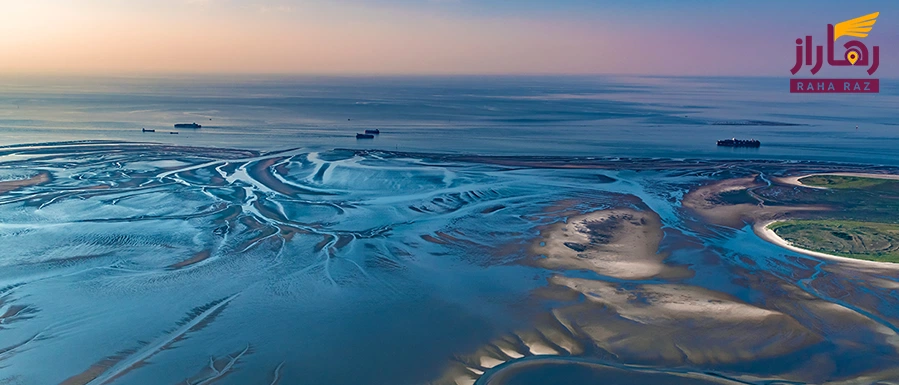
[[[899,378],[897,265],[757,234],[895,214],[787,182],[895,168],[78,142],[0,173],[0,383]]]

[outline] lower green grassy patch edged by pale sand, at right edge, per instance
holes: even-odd
[[[899,224],[793,220],[768,226],[796,247],[878,262],[899,263]]]

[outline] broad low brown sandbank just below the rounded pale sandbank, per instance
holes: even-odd
[[[789,315],[701,287],[620,287],[561,276],[552,282],[588,299],[560,309],[560,322],[578,325],[579,333],[596,346],[627,362],[724,364],[780,356],[821,342],[814,331]]]

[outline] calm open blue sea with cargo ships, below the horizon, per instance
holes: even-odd
[[[0,144],[113,139],[897,165],[899,88],[882,83],[877,95],[792,95],[786,78],[7,77]],[[203,128],[170,135],[179,122]],[[367,128],[383,134],[357,141]],[[715,146],[731,137],[763,146]]]

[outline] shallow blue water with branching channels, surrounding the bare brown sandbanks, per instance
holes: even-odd
[[[535,294],[554,274],[621,288],[669,283],[528,263],[536,256],[526,245],[541,226],[627,195],[660,214],[667,263],[694,272],[677,282],[783,312],[821,338],[679,370],[819,382],[899,365],[893,271],[840,272],[680,209],[701,181],[821,165],[547,169],[442,155],[103,143],[6,148],[0,160],[5,171],[51,176],[0,196],[0,302],[16,309],[0,324],[0,379],[21,384],[434,381],[454,357],[583,303]],[[796,296],[806,302],[793,304]],[[842,310],[806,308],[823,304]],[[741,326],[750,335],[754,327]],[[575,356],[668,370],[596,350]],[[810,357],[833,366],[810,374]],[[563,369],[535,370],[555,377]]]

